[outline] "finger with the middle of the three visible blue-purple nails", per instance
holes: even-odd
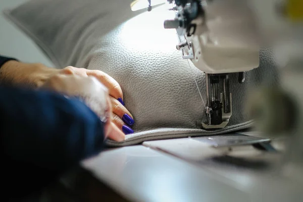
[[[112,104],[112,112],[120,119],[124,121],[129,126],[132,126],[134,124],[133,116],[129,113],[129,111],[114,97],[111,98],[111,104]]]

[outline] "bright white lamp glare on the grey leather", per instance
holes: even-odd
[[[175,51],[178,43],[176,30],[163,26],[164,20],[174,18],[173,13],[164,5],[128,20],[122,26],[121,43],[129,51]]]

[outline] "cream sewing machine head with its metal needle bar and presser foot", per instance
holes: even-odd
[[[207,130],[224,128],[232,115],[229,73],[239,72],[238,81],[243,83],[245,71],[259,66],[259,46],[251,40],[254,20],[246,1],[167,2],[175,18],[165,20],[164,28],[176,29],[182,58],[206,73],[208,123],[199,125]]]

